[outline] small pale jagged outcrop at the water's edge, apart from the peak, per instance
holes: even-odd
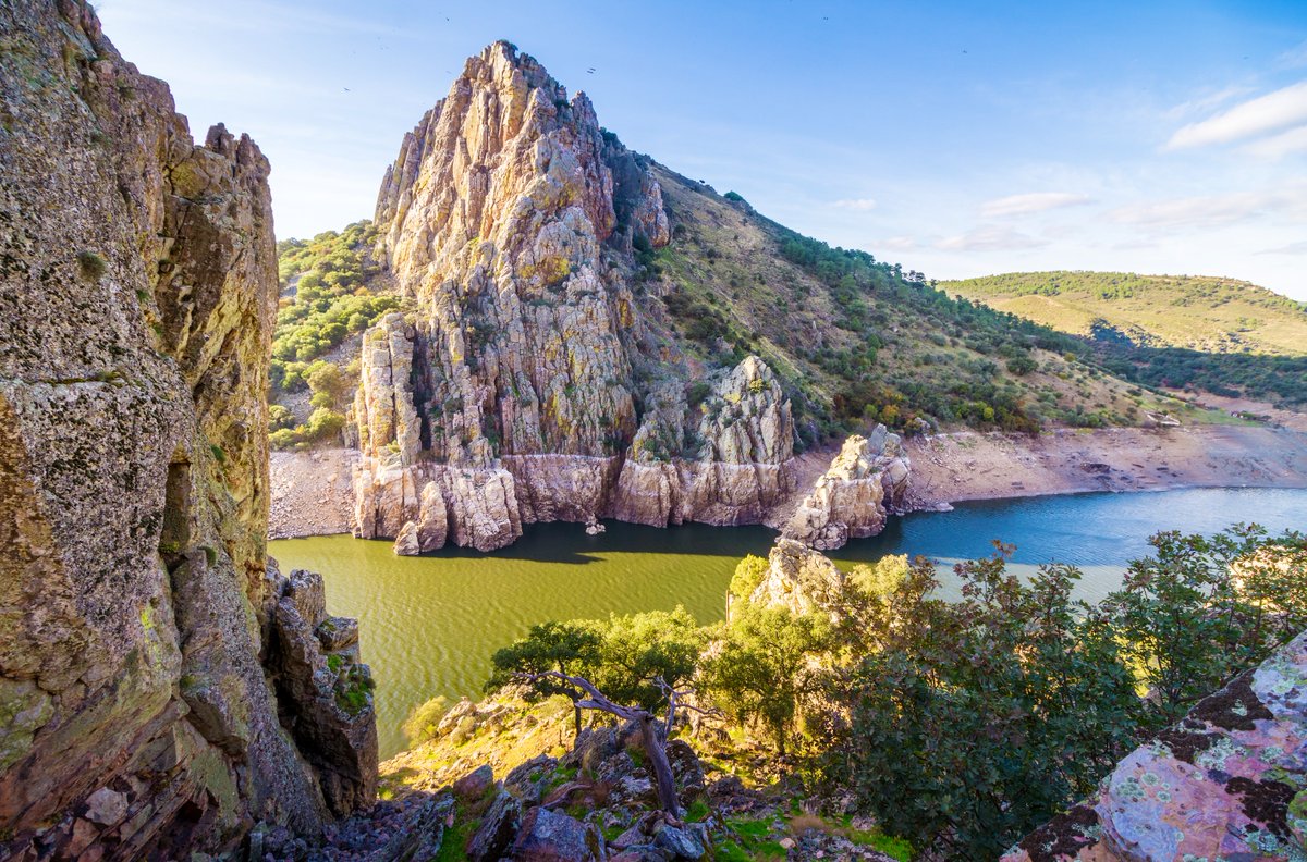
[[[885,528],[887,509],[904,502],[910,469],[902,441],[884,424],[870,438],[848,438],[782,534],[821,550],[876,535]]]

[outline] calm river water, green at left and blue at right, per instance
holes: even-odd
[[[1085,569],[1081,594],[1100,598],[1128,560],[1148,554],[1161,529],[1213,533],[1235,521],[1307,530],[1304,490],[1187,490],[1080,494],[963,503],[951,512],[891,519],[874,538],[833,556],[842,566],[886,554],[925,554],[948,564],[1017,545],[1019,571],[1040,563]],[[476,696],[490,654],[549,619],[606,616],[684,605],[699,622],[721,619],[736,563],[766,555],[775,534],[761,526],[698,524],[667,530],[606,522],[536,524],[494,554],[448,549],[404,558],[389,542],[348,535],[282,539],[269,551],[284,569],[310,568],[327,581],[331,613],[357,616],[363,658],[376,678],[382,756],[403,748],[400,725],[434,695]]]

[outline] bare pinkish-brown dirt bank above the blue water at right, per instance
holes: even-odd
[[[914,508],[1080,491],[1307,487],[1307,435],[1287,428],[963,432],[916,438],[907,449]]]

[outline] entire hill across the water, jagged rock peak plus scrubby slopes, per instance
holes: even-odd
[[[280,251],[272,443],[357,449],[356,533],[404,554],[533,521],[783,522],[816,479],[796,456],[867,435],[890,464],[878,426],[1219,417],[629,150],[502,42],[405,136],[372,221]],[[880,469],[857,530],[904,503]]]

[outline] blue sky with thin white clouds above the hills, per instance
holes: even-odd
[[[1217,274],[1307,299],[1300,0],[98,9],[192,132],[259,141],[281,238],[370,217],[404,132],[506,38],[629,146],[931,277]]]

